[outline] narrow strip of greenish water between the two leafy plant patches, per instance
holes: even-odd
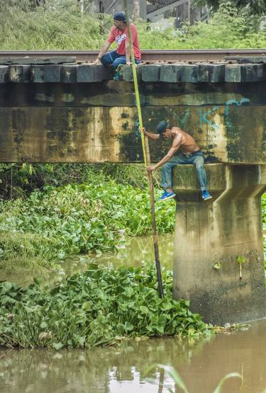
[[[174,235],[162,235],[159,237],[159,251],[161,263],[163,265],[172,266],[174,258]],[[63,261],[60,268],[43,275],[43,283],[55,285],[55,283],[64,280],[67,275],[84,271],[87,269],[88,263],[96,262],[100,265],[113,266],[140,266],[141,261],[153,261],[153,238],[152,237],[133,237],[127,239],[125,243],[120,244],[120,248],[115,253],[105,253],[97,256],[73,256]],[[20,285],[29,285],[33,278],[28,274],[13,274],[5,278],[11,283]]]

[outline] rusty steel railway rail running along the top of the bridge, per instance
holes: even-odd
[[[8,50],[0,51],[0,58],[7,57],[76,57],[77,62],[93,62],[96,50]],[[225,57],[266,57],[266,49],[196,49],[196,50],[143,50],[143,62],[222,62]]]

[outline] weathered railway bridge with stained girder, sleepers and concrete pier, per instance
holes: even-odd
[[[130,67],[0,54],[1,162],[142,162]],[[194,166],[174,169],[174,297],[214,324],[265,317],[260,197],[266,189],[266,60],[138,66],[147,130],[167,119],[206,157],[211,202]],[[51,64],[52,63],[52,64]],[[157,161],[169,147],[150,143]]]

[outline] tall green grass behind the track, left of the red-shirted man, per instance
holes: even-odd
[[[111,27],[111,17],[95,18],[80,12],[76,0],[45,1],[33,8],[30,1],[14,0],[0,13],[1,49],[52,50],[100,47]]]

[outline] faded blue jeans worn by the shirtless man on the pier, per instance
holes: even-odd
[[[178,156],[173,156],[172,159],[163,165],[161,181],[162,188],[172,188],[172,168],[179,164],[194,164],[199,178],[199,186],[201,187],[201,191],[207,189],[207,178],[204,169],[204,155],[200,150],[189,154],[180,153]]]

